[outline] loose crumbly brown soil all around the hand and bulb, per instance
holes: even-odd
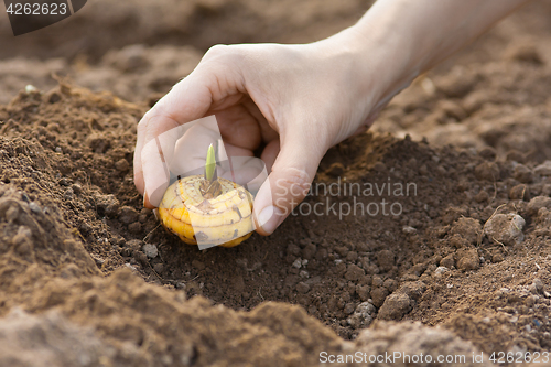
[[[318,190],[272,236],[204,251],[142,208],[138,120],[210,44],[314,40],[367,6],[174,7],[95,1],[79,22],[0,35],[13,45],[0,55],[0,365],[313,366],[323,350],[474,365],[473,353],[551,349],[550,1],[332,149]]]

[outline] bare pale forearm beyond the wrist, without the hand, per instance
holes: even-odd
[[[526,2],[528,0],[379,0],[356,25],[337,36],[353,40],[368,79],[372,79],[374,72],[378,74],[378,84],[383,86],[376,96],[380,106],[419,74],[474,41]]]

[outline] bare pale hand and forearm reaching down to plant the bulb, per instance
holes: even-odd
[[[311,44],[212,47],[138,125],[134,182],[144,206],[161,201],[148,187],[164,187],[151,159],[160,153],[147,143],[215,114],[228,155],[263,147],[270,184],[253,207],[257,231],[270,235],[302,202],[331,147],[368,129],[418,75],[526,2],[379,0],[357,24]]]

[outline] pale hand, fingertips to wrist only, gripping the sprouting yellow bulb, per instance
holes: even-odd
[[[147,143],[214,114],[229,156],[252,156],[263,147],[260,158],[270,172],[269,184],[260,187],[253,208],[257,231],[271,234],[305,197],[325,152],[367,129],[376,112],[375,83],[361,75],[366,62],[360,65],[346,43],[353,39],[345,31],[306,45],[210,48],[138,125],[134,182],[144,205],[153,208],[162,198],[150,187],[166,187],[154,163],[160,159],[156,144]],[[170,161],[174,149],[162,153]]]

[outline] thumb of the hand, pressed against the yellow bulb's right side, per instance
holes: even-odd
[[[304,199],[325,153],[303,137],[282,141],[272,171],[255,198],[257,231],[263,236],[272,234]]]

